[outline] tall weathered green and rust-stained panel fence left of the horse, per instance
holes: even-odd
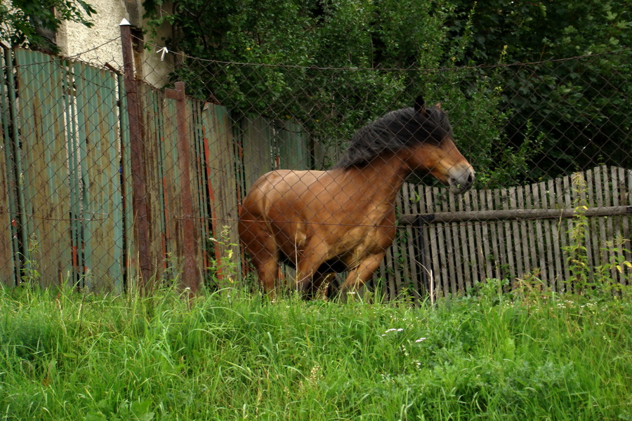
[[[137,273],[138,250],[122,77],[23,49],[6,50],[2,60],[0,281],[123,290]],[[231,116],[220,105],[185,99],[183,167],[178,100],[139,87],[152,273],[176,279],[185,255],[208,268],[235,248],[237,203],[246,185],[264,170],[310,166],[308,137],[292,121]],[[242,156],[259,144],[267,149],[257,148],[258,156],[244,163]],[[192,216],[184,213],[187,201]],[[194,250],[185,249],[187,219],[195,226]],[[223,227],[230,228],[221,241]]]

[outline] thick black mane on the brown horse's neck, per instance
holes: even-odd
[[[428,107],[423,114],[414,108],[397,109],[357,131],[342,159],[332,168],[362,167],[384,152],[423,142],[438,145],[446,136],[452,138],[452,126],[441,109]]]

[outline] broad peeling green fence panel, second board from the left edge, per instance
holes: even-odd
[[[24,183],[29,245],[25,274],[41,286],[69,279],[72,250],[70,187],[62,86],[67,70],[62,61],[15,50],[20,98],[21,174]]]

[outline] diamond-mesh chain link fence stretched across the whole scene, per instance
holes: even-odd
[[[4,283],[434,299],[632,280],[629,50],[449,69],[168,55],[159,89],[147,62],[5,51]]]

